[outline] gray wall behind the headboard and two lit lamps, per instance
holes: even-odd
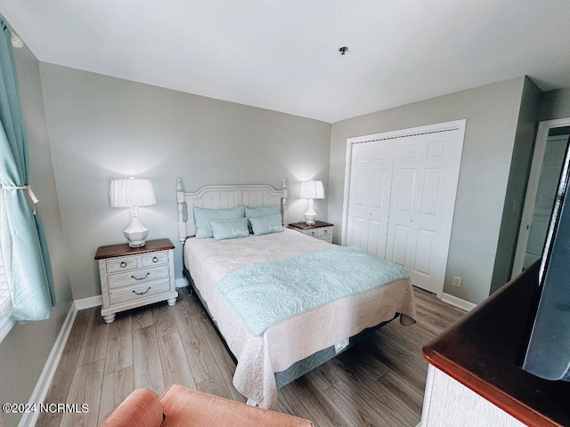
[[[298,182],[324,181],[330,124],[40,63],[53,167],[73,297],[101,294],[94,254],[125,242],[127,209],[109,205],[111,178],[149,178],[157,205],[141,208],[149,238],[177,243],[176,178],[187,191],[207,184],[290,186],[287,222],[300,221]],[[318,202],[318,203],[317,203]],[[326,201],[315,209],[327,217]]]

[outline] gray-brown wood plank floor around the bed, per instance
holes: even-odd
[[[233,388],[235,365],[187,288],[166,302],[118,313],[81,310],[45,403],[86,403],[86,414],[40,415],[38,426],[95,426],[135,388],[162,394],[171,383],[244,401]],[[280,390],[277,410],[317,426],[415,426],[428,363],[421,347],[464,311],[415,289],[412,326],[393,321]]]

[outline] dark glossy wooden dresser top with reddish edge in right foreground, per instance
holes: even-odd
[[[424,346],[424,358],[468,389],[533,426],[570,425],[570,383],[517,366],[538,263]]]

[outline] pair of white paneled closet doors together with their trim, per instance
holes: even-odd
[[[465,121],[347,140],[342,244],[403,265],[441,297]]]

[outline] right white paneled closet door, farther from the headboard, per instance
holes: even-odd
[[[460,131],[395,140],[386,258],[411,283],[441,295],[461,156]]]

